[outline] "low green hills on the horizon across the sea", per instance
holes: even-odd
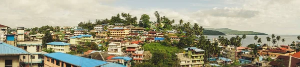
[[[260,33],[260,32],[253,32],[253,31],[238,31],[238,30],[231,30],[228,28],[205,28],[206,30],[215,30],[215,31],[219,31],[225,34],[229,34],[229,35],[267,35],[265,33]]]

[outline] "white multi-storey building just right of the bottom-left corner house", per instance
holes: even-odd
[[[41,53],[41,41],[22,41],[22,42],[17,42],[17,47],[21,48],[23,50],[26,50],[27,52],[31,53],[32,56],[28,55],[20,55],[20,61],[23,61],[23,65],[25,67],[31,66],[32,67],[41,67],[42,65],[42,58],[43,56]],[[32,57],[32,58],[31,58]],[[28,65],[30,64],[30,65]]]

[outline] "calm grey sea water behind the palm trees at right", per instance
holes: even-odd
[[[231,37],[235,37],[236,35],[225,35],[224,37],[230,39]],[[242,35],[238,35],[239,37],[241,37]],[[242,46],[245,47],[249,44],[253,44],[253,43],[257,43],[257,41],[254,40],[254,36],[255,35],[246,35],[246,38],[244,39],[243,41],[243,44]],[[292,41],[298,41],[297,39],[297,36],[298,35],[275,35],[275,36],[280,36],[281,39],[284,38],[285,39],[285,42],[284,42],[284,45],[288,45],[288,44],[291,44]],[[266,37],[271,37],[271,35],[257,35],[258,38],[261,38],[261,42],[262,44],[268,44],[268,42],[266,41]],[[213,38],[218,38],[218,36],[207,36],[208,39],[212,40]],[[279,45],[283,45],[283,42],[281,42],[281,39],[278,43],[278,46]],[[272,40],[271,40],[272,41]],[[269,45],[273,45],[272,42],[269,42]],[[277,43],[275,45],[277,45]]]

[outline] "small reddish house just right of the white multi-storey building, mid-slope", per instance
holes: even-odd
[[[131,44],[126,46],[126,52],[127,53],[134,53],[136,50],[140,49],[141,47],[137,44]]]

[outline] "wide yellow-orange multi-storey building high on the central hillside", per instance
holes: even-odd
[[[129,29],[124,29],[122,27],[114,27],[112,29],[108,29],[110,33],[110,37],[112,38],[124,38],[129,34]]]

